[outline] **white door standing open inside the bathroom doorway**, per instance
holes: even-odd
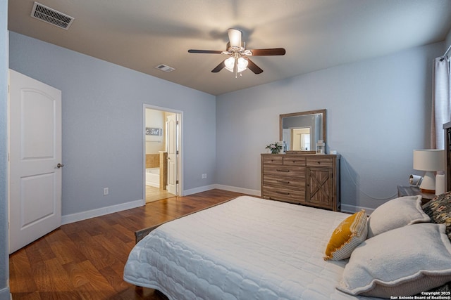
[[[169,193],[178,195],[178,143],[177,143],[177,114],[169,115],[166,118],[166,132],[168,135],[168,185],[166,189]]]

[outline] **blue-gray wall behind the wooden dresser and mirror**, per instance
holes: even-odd
[[[326,108],[326,148],[342,155],[343,208],[395,197],[396,185],[421,174],[412,150],[429,147],[432,60],[443,48],[411,48],[216,97],[217,183],[260,190],[260,153],[278,141],[279,115]]]

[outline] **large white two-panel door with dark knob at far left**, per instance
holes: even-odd
[[[61,91],[9,70],[9,253],[61,226]]]

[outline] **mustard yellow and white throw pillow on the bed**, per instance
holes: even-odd
[[[364,209],[343,220],[330,237],[324,260],[348,259],[352,251],[366,240],[367,222],[368,217]]]

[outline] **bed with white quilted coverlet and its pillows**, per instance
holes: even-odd
[[[364,211],[350,215],[237,197],[152,228],[130,252],[124,280],[171,300],[371,300],[412,288],[426,295],[451,281],[447,227],[431,223],[421,197],[391,200],[374,217],[364,214],[358,226],[357,214]],[[325,258],[346,222],[354,231],[334,248],[338,259]]]

